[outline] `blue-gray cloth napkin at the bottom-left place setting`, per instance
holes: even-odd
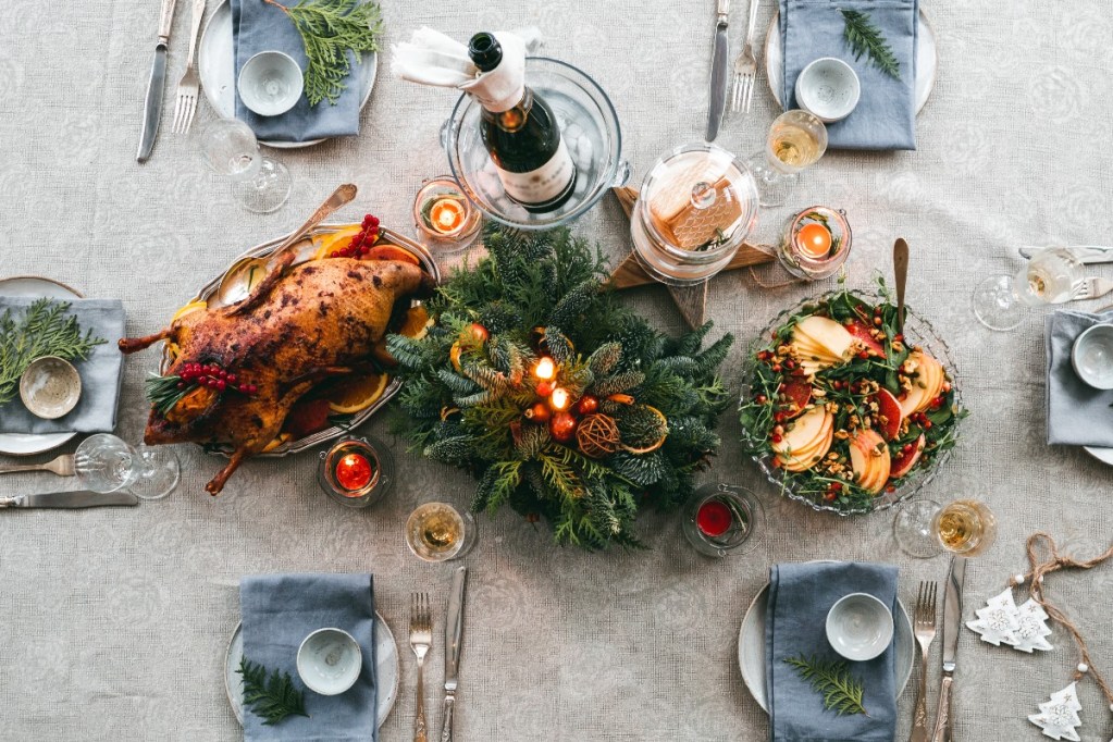
[[[370,574],[264,574],[239,581],[244,656],[270,670],[288,672],[305,690],[305,716],[287,716],[275,726],[244,710],[244,739],[298,742],[378,740],[375,677],[375,588]],[[363,650],[355,685],[338,695],[319,695],[297,676],[297,649],[317,629],[343,629]]]

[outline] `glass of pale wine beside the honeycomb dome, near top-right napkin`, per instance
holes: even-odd
[[[766,148],[748,162],[761,206],[780,206],[796,188],[799,172],[827,151],[827,127],[808,111],[794,109],[769,127]]]

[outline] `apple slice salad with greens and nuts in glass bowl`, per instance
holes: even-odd
[[[897,332],[881,286],[802,306],[760,339],[740,407],[748,453],[817,506],[869,512],[955,444],[965,415],[938,359]]]

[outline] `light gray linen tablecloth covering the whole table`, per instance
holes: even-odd
[[[161,328],[244,249],[296,228],[341,182],[359,186],[345,219],[373,211],[386,226],[408,229],[418,184],[447,170],[437,130],[455,96],[385,73],[363,111],[359,137],[268,152],[294,177],[289,204],[275,214],[236,206],[228,181],[201,162],[194,136],[164,129],[151,159],[136,165],[158,4],[4,6],[0,271],[45,274],[90,297],[122,298],[129,334],[141,335]],[[542,53],[568,59],[607,90],[636,184],[662,152],[702,137],[711,0],[382,4],[387,44],[421,26],[461,38],[480,29],[541,28]],[[737,52],[747,8],[731,6]],[[760,7],[759,39],[775,7]],[[185,65],[186,8],[179,3],[170,41],[167,120]],[[1016,246],[1093,244],[1095,225],[1109,220],[1113,167],[1094,142],[1107,141],[1113,119],[1113,17],[1104,0],[925,0],[923,8],[938,37],[940,67],[916,120],[918,149],[829,152],[804,172],[788,205],[762,211],[755,238],[775,241],[788,218],[812,204],[844,208],[854,228],[847,271],[860,287],[869,286],[875,268],[887,268],[895,237],[912,246],[908,301],[946,338],[972,410],[961,444],[922,496],[982,497],[997,514],[996,544],[966,570],[969,620],[1024,568],[1024,540],[1034,531],[1048,531],[1062,550],[1083,558],[1109,545],[1113,469],[1078,448],[1046,445],[1043,315],[1033,310],[1016,330],[992,333],[975,320],[969,297],[987,276],[1015,275]],[[742,157],[760,151],[777,112],[762,72],[752,110],[728,117],[717,142]],[[201,103],[195,130],[211,118]],[[630,250],[626,218],[610,197],[575,229],[614,258]],[[1113,277],[1113,266],[1089,270]],[[761,277],[780,278],[772,270]],[[833,285],[762,289],[745,271],[711,281],[712,337],[731,332],[740,338],[723,366],[732,393],[741,387],[745,342],[781,309]],[[627,300],[663,329],[683,326],[663,288],[634,289]],[[1105,303],[1076,306],[1096,311]],[[129,441],[141,435],[142,379],[157,364],[154,348],[125,364],[117,431]],[[480,541],[466,560],[457,739],[758,741],[768,734],[768,719],[742,684],[737,637],[770,565],[894,563],[906,605],[920,580],[945,580],[945,557],[918,561],[894,548],[892,513],[841,518],[782,499],[742,456],[732,414],[719,429],[722,451],[700,481],[737,483],[761,498],[765,538],[747,556],[705,558],[676,520],[652,513],[640,521],[652,548],[630,554],[554,548],[544,531],[514,513],[479,516]],[[382,417],[367,431],[395,442]],[[203,487],[223,459],[193,446],[179,446],[178,455],[181,484],[159,502],[0,513],[0,736],[238,740],[221,672],[239,620],[240,577],[372,568],[376,604],[402,655],[398,700],[383,739],[412,732],[415,672],[405,635],[414,591],[430,591],[441,606],[425,666],[426,708],[437,725],[452,566],[414,558],[402,526],[418,503],[469,503],[474,482],[397,442],[397,486],[368,511],[341,507],[319,492],[315,452],[247,462],[214,498]],[[67,484],[49,474],[11,475],[0,478],[0,494]],[[1086,635],[1095,666],[1113,673],[1113,565],[1047,580]],[[1062,630],[1051,641],[1055,651],[1028,655],[963,630],[955,740],[1043,739],[1026,715],[1070,683],[1077,662]],[[940,644],[932,644],[933,710]],[[898,739],[908,735],[916,682],[918,671],[900,696]],[[1078,695],[1082,738],[1109,742],[1107,704],[1087,680]]]

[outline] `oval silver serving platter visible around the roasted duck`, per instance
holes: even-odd
[[[307,261],[313,256],[313,254],[316,253],[318,246],[314,244],[313,241],[314,237],[339,231],[341,229],[344,229],[349,226],[352,225],[323,224],[318,226],[316,229],[312,230],[308,235],[306,235],[304,239],[302,239],[302,241],[297,243],[297,245],[290,248],[297,251],[297,259],[295,259],[294,265]],[[408,237],[404,237],[396,231],[386,229],[385,227],[380,227],[378,235],[380,237],[376,245],[394,245],[396,247],[401,247],[402,249],[408,253],[412,253],[418,260],[421,260],[422,267],[425,269],[426,273],[429,273],[429,275],[433,277],[433,280],[435,280],[437,284],[441,283],[441,271],[436,266],[436,261],[433,259],[433,255],[424,246],[418,245]],[[275,237],[274,239],[269,239],[259,245],[256,245],[249,250],[237,256],[236,259],[233,260],[232,264],[229,264],[228,269],[236,267],[237,264],[239,264],[239,261],[243,260],[244,258],[265,258],[270,256],[275,251],[275,248],[282,245],[283,241],[285,241],[286,237],[288,236],[289,236],[288,234],[283,235],[279,237]],[[213,278],[213,280],[203,286],[201,289],[197,291],[197,294],[191,299],[189,299],[189,301],[205,301],[209,304],[210,307],[216,308],[216,307],[227,306],[229,304],[235,304],[236,301],[247,296],[248,293],[247,281],[249,277],[246,275],[246,271],[243,270],[238,271],[239,274],[244,274],[240,276],[239,280],[232,280],[226,283],[224,281],[224,277],[228,273],[228,269],[226,269],[225,273],[221,273],[219,276],[216,276],[215,278]],[[255,283],[257,283],[257,279],[252,280],[253,286],[255,285]],[[223,290],[220,295],[217,295],[217,289],[220,289],[221,285],[223,285]],[[413,301],[413,304],[416,305],[420,304],[420,301],[415,300]],[[166,373],[166,369],[169,367],[169,365],[170,365],[169,350],[166,347],[166,344],[164,344],[162,360],[158,367],[159,374]],[[394,395],[398,393],[398,389],[401,388],[402,388],[401,379],[392,375],[391,383],[386,385],[386,389],[383,392],[383,396],[380,397],[378,400],[375,402],[375,404],[371,405],[366,409],[356,413],[355,416],[353,416],[352,419],[347,423],[347,425],[343,427],[339,425],[334,425],[332,427],[325,428],[324,431],[318,431],[317,433],[308,435],[304,438],[287,441],[280,446],[276,446],[270,451],[258,454],[258,456],[286,456],[288,454],[296,454],[301,451],[305,451],[306,448],[312,448],[316,445],[325,443],[326,441],[332,441],[334,438],[338,438],[342,435],[346,435],[347,433],[351,433],[359,425],[362,425],[364,422],[366,422],[367,418],[370,418],[376,412],[378,412],[387,402],[391,400],[392,397],[394,397]],[[224,455],[228,455],[229,453],[232,453],[230,448],[221,448],[219,446],[208,446],[207,448],[214,451],[215,453],[220,453]]]

